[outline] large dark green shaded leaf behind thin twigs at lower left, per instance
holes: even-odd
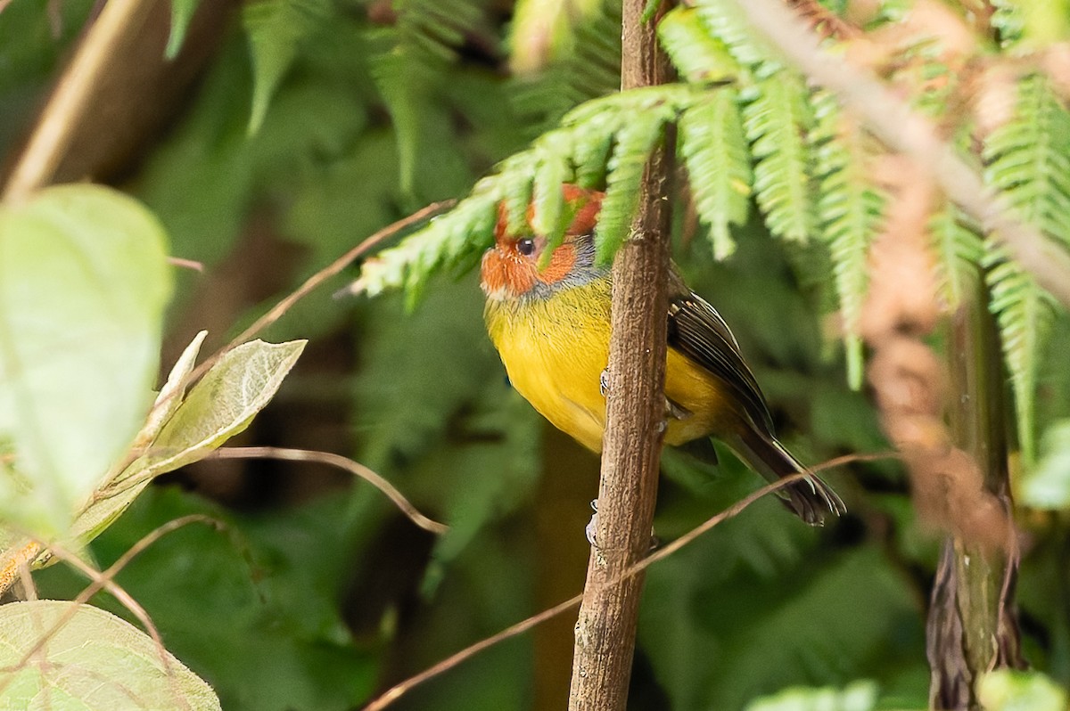
[[[235,513],[179,486],[153,485],[92,547],[98,565],[108,567],[169,521],[199,514],[221,522],[223,531],[195,525],[168,534],[132,560],[119,582],[150,610],[167,649],[212,685],[224,709],[353,711],[376,689],[382,647],[360,631],[354,636],[339,602],[357,581],[376,588],[382,578],[353,547],[353,528],[340,524],[350,505],[348,492],[338,492]],[[374,527],[360,534],[360,545],[378,545],[377,535]],[[67,566],[34,581],[52,599],[86,587]],[[110,596],[94,603],[138,623]],[[376,606],[358,614],[376,619]]]

